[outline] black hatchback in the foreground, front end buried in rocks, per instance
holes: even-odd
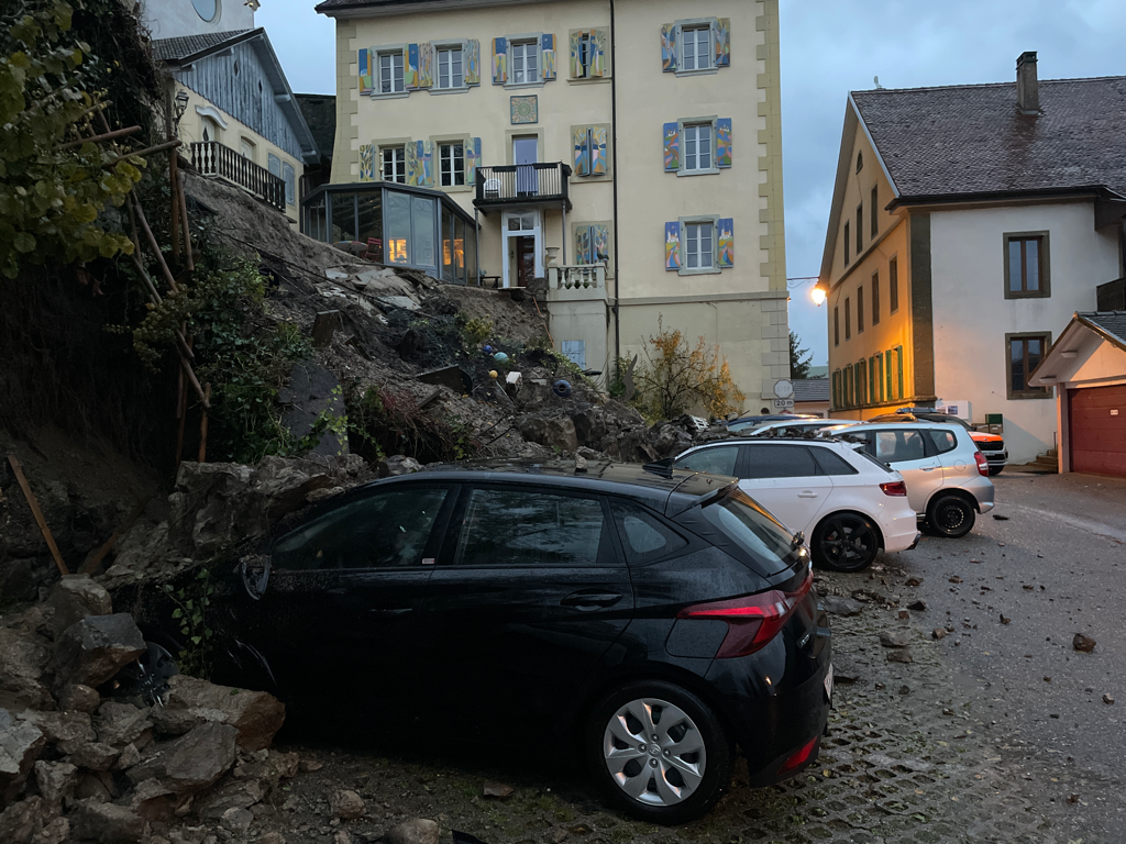
[[[817,756],[832,671],[808,556],[733,481],[443,467],[354,490],[267,550],[212,595],[216,679],[348,701],[384,731],[578,746],[661,824],[715,803],[736,744],[752,784]],[[168,643],[155,598],[140,620]]]

